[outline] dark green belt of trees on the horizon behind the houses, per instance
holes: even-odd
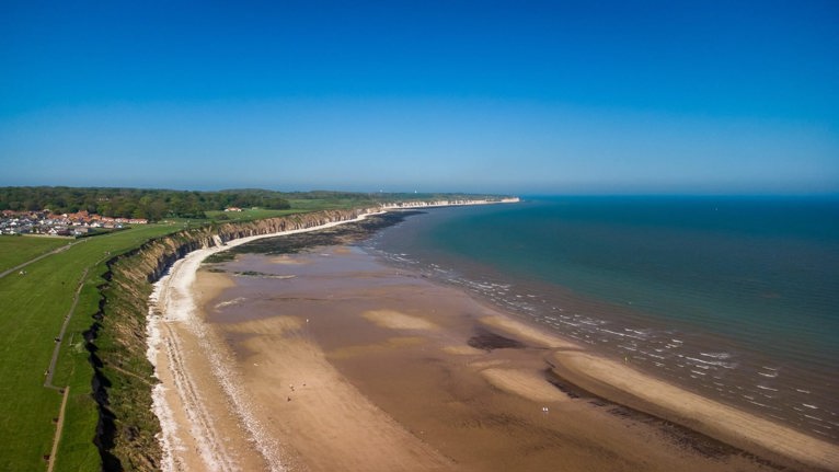
[[[0,187],[0,210],[56,214],[88,210],[106,217],[204,218],[227,207],[290,208],[281,194],[262,189],[185,192],[148,188]]]

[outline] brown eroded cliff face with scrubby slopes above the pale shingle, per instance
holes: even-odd
[[[94,442],[103,470],[160,469],[151,411],[152,366],[146,359],[146,316],[151,284],[187,253],[239,238],[303,230],[357,218],[370,210],[330,210],[252,222],[230,222],[184,230],[146,242],[107,262],[107,284],[94,322],[84,333],[91,380],[99,408]]]

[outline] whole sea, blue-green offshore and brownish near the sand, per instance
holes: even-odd
[[[428,209],[363,247],[839,444],[839,198],[528,197]]]

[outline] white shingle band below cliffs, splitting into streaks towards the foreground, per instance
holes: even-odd
[[[172,330],[163,329],[170,323],[185,323],[198,337],[204,353],[208,356],[212,366],[212,373],[225,390],[228,400],[235,406],[235,413],[240,422],[246,429],[250,440],[256,446],[257,451],[263,456],[272,471],[285,472],[287,469],[280,461],[280,451],[276,441],[264,434],[261,423],[252,413],[246,392],[243,392],[234,379],[233,372],[227,367],[227,362],[221,356],[209,346],[203,321],[196,313],[195,300],[192,295],[192,286],[195,281],[196,272],[202,262],[211,254],[226,251],[240,244],[255,241],[263,238],[281,237],[321,229],[332,228],[338,225],[345,225],[354,221],[360,221],[368,216],[381,215],[384,211],[369,212],[359,215],[357,218],[332,221],[311,228],[280,231],[271,234],[258,234],[253,237],[232,240],[222,246],[211,246],[193,251],[180,261],[176,261],[170,274],[162,277],[154,284],[154,290],[149,297],[149,318],[147,326],[148,350],[147,357],[154,366],[154,375],[158,375],[157,356],[160,349],[165,350],[166,359],[170,362],[174,385],[164,385],[162,383],[152,390],[152,411],[158,416],[161,424],[161,434],[159,437],[163,457],[161,468],[164,472],[175,472],[183,470],[183,464],[177,459],[176,451],[183,448],[183,440],[180,437],[177,424],[173,418],[172,407],[165,399],[165,390],[173,388],[181,398],[183,406],[189,417],[191,431],[198,442],[202,452],[202,459],[205,461],[208,470],[234,471],[238,470],[231,454],[227,451],[225,444],[215,435],[212,416],[204,408],[199,392],[193,385],[188,373],[184,370],[181,359],[181,348],[176,335]],[[165,342],[164,342],[165,339]]]

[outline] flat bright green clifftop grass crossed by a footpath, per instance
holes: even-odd
[[[91,398],[92,369],[82,343],[82,332],[99,309],[97,285],[105,280],[104,261],[129,251],[150,238],[180,230],[180,223],[148,225],[88,238],[69,250],[47,256],[16,273],[0,278],[0,470],[43,470],[49,453],[61,395],[43,387],[44,372],[55,347],[64,318],[85,268],[90,268],[79,303],[65,334],[54,384],[70,387],[67,418],[56,470],[97,470],[99,452],[92,444],[96,424]],[[12,244],[30,244],[15,241]],[[35,241],[33,239],[33,241]],[[46,241],[46,240],[45,240]],[[66,241],[64,241],[66,244]],[[34,244],[38,244],[37,242]],[[26,247],[30,255],[46,246]],[[31,257],[30,257],[31,258]],[[16,253],[0,258],[0,265],[19,261]],[[14,265],[14,264],[12,264]]]

